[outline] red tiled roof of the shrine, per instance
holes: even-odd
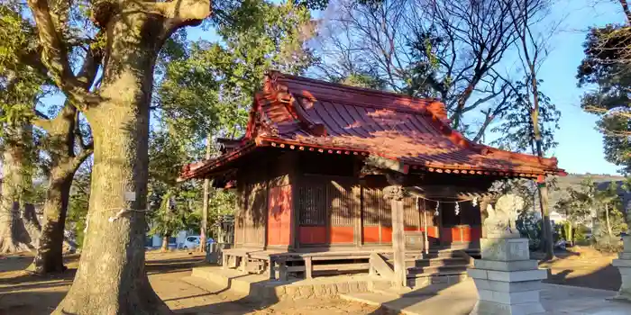
[[[450,128],[444,105],[436,100],[278,72],[266,76],[263,91],[255,97],[242,143],[252,141],[256,146],[377,155],[432,172],[517,176],[563,172],[556,158],[471,143]],[[204,169],[213,168],[215,160],[204,164]]]

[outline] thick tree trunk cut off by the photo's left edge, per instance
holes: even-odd
[[[5,148],[3,151],[2,185],[0,186],[0,254],[11,254],[33,249],[32,232],[29,232],[23,220],[21,208],[26,213],[25,193],[31,189],[26,158],[29,157],[30,142],[25,126],[5,128]],[[33,213],[28,213],[30,220],[37,220]],[[26,224],[29,224],[28,222]]]

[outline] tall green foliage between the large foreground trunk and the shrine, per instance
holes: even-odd
[[[217,42],[175,41],[168,47],[178,54],[161,63],[163,77],[154,99],[161,130],[153,132],[150,145],[150,199],[158,210],[152,215],[154,232],[195,228],[196,218],[202,217],[200,187],[176,183],[181,166],[203,157],[203,139],[241,136],[265,71],[301,74],[315,60],[306,47],[315,31],[306,6],[245,1],[220,3],[215,10]],[[165,193],[181,198],[184,192],[195,201],[189,208],[158,208]],[[232,192],[213,191],[208,223],[232,213],[234,200]],[[167,214],[170,220],[160,219]]]

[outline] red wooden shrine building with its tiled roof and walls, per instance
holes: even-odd
[[[222,155],[185,167],[181,179],[236,188],[237,248],[390,248],[389,183],[365,167],[378,161],[413,192],[404,199],[407,248],[423,247],[417,236],[430,247],[476,248],[491,183],[562,170],[555,158],[474,144],[449,122],[437,100],[270,72],[245,135],[219,139]]]

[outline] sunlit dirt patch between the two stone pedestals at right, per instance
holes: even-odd
[[[611,291],[620,288],[620,273],[611,266],[617,254],[603,254],[591,247],[578,246],[555,254],[553,261],[539,265],[550,269],[551,275],[545,282]]]

